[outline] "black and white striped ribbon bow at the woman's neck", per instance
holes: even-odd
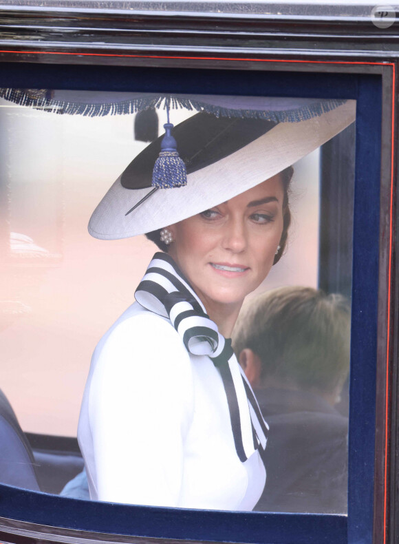
[[[136,300],[149,311],[167,317],[193,355],[208,355],[219,369],[226,392],[237,455],[244,463],[259,447],[266,448],[268,424],[244,371],[217,325],[166,253],[155,253],[136,289]]]

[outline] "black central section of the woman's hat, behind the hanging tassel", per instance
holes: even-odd
[[[187,174],[217,163],[263,134],[277,123],[263,119],[215,117],[201,112],[176,125],[172,135],[184,160]],[[164,135],[153,141],[134,158],[121,176],[122,187],[151,187],[153,167]]]

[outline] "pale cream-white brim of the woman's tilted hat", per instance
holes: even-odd
[[[126,189],[116,180],[89,221],[94,238],[116,240],[161,229],[194,216],[272,178],[353,123],[356,101],[296,123],[278,123],[233,154],[187,176],[185,187],[159,189],[125,213],[151,188]]]

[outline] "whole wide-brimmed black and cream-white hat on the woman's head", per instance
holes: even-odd
[[[250,110],[244,117],[200,112],[174,127],[187,171],[183,187],[157,191],[151,187],[162,137],[155,140],[132,160],[96,207],[89,221],[91,236],[129,238],[217,206],[296,163],[355,120],[353,100],[283,102],[281,108],[281,98],[268,98],[260,116]]]

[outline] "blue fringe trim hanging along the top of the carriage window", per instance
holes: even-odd
[[[144,109],[188,109],[188,111],[206,112],[217,117],[257,118],[276,123],[297,123],[313,117],[319,117],[325,112],[330,112],[345,103],[345,100],[315,101],[310,105],[303,105],[296,109],[273,112],[270,110],[256,109],[230,109],[218,105],[202,103],[173,96],[161,94],[160,96],[142,96],[127,101],[110,102],[103,104],[85,104],[57,101],[51,98],[51,92],[34,89],[0,89],[0,97],[6,98],[21,106],[43,109],[45,112],[64,115],[83,115],[86,117],[98,117],[105,115],[127,115],[142,112]]]

